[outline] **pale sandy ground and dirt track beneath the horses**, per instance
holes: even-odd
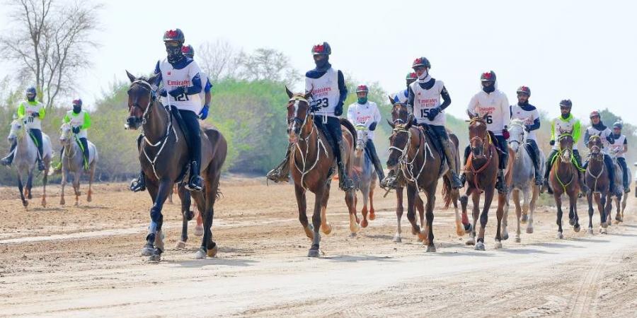
[[[323,235],[323,257],[309,259],[292,186],[226,178],[213,225],[218,257],[193,259],[200,245],[194,222],[188,247],[174,249],[181,216],[178,204],[168,204],[167,250],[149,263],[139,254],[147,193],[98,184],[93,202],[83,196],[74,207],[70,191],[67,206],[59,206],[59,187],[50,187],[50,206],[42,208],[34,189],[25,211],[16,191],[0,188],[0,316],[635,317],[637,310],[632,195],[626,222],[607,235],[598,232],[597,214],[595,234],[585,234],[581,202],[583,230],[573,232],[565,218],[565,239],[557,240],[555,209],[541,207],[535,232],[499,250],[490,213],[486,252],[464,245],[453,211],[437,207],[437,253],[426,254],[406,216],[403,242],[392,242],[394,194],[378,193],[377,219],[350,237],[343,194],[333,189],[333,232]]]

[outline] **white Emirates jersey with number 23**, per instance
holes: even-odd
[[[338,89],[338,71],[330,68],[319,78],[305,78],[305,91],[311,90],[311,102],[319,107],[315,114],[337,117],[334,114],[336,105],[340,98]]]

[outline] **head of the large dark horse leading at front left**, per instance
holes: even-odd
[[[155,92],[151,83],[154,83],[159,74],[154,74],[150,78],[135,77],[128,71],[126,75],[130,79],[128,88],[128,118],[125,129],[137,129],[144,122],[144,115],[148,112],[155,100]]]

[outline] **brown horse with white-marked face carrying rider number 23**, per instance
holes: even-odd
[[[299,221],[305,235],[312,241],[308,257],[319,257],[321,235],[319,228],[329,235],[332,225],[326,218],[326,209],[330,197],[332,176],[335,174],[335,155],[327,139],[326,133],[314,123],[314,114],[310,111],[309,93],[292,93],[285,88],[289,100],[287,102],[287,134],[289,147],[292,149],[289,170],[294,179],[294,194],[299,207]],[[352,172],[352,158],[356,130],[347,119],[340,120],[343,131],[345,152],[342,160],[348,173]],[[350,174],[351,175],[351,174]],[[314,214],[311,225],[306,215],[306,192],[314,193]],[[360,230],[355,204],[356,190],[345,192],[345,204],[348,206],[351,236]]]

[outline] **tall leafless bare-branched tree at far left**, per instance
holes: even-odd
[[[13,29],[0,37],[0,49],[18,65],[18,78],[35,81],[50,108],[57,96],[73,91],[76,73],[91,66],[89,50],[98,44],[90,35],[98,29],[101,4],[18,0],[8,6]]]

